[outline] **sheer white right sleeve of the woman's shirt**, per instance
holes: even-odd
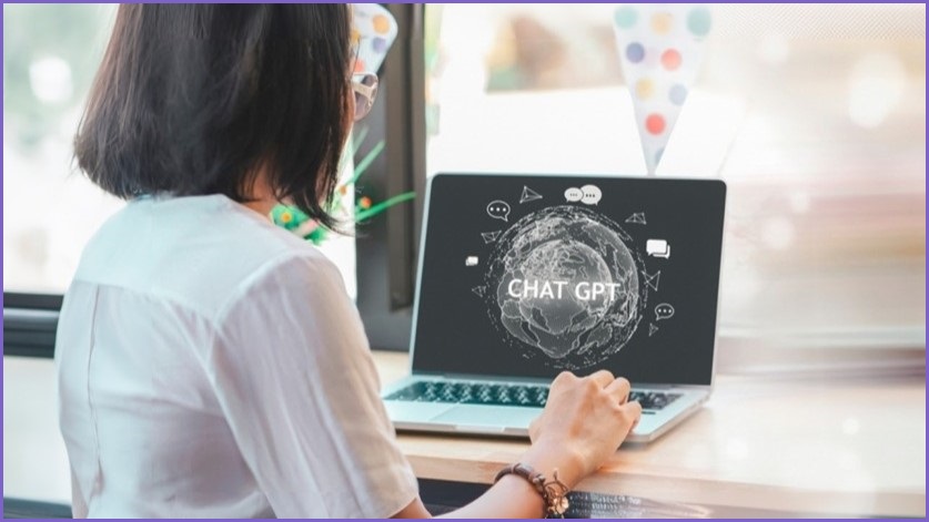
[[[416,497],[364,328],[331,262],[315,250],[269,262],[215,323],[204,367],[277,516],[381,518]]]

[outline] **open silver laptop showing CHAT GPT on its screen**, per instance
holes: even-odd
[[[629,379],[652,441],[713,389],[726,185],[437,174],[398,430],[527,437],[564,370]]]

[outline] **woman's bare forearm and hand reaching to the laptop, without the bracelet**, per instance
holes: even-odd
[[[638,402],[628,402],[629,381],[608,371],[578,378],[562,373],[552,383],[542,416],[529,428],[533,446],[519,462],[574,488],[599,468],[642,417]],[[542,495],[522,477],[504,475],[474,502],[448,513],[456,519],[537,519],[545,515]],[[394,518],[430,518],[421,499]]]

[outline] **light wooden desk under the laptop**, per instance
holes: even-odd
[[[382,382],[405,354],[375,352]],[[489,483],[525,440],[401,434],[423,479]],[[926,515],[926,380],[719,377],[709,402],[650,444],[624,444],[577,488],[806,514]]]

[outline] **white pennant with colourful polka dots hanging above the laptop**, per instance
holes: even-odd
[[[613,24],[649,174],[687,100],[711,28],[705,4],[620,4]]]

